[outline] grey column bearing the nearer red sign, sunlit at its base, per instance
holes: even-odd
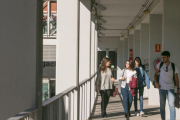
[[[154,88],[152,82],[154,81],[155,68],[153,62],[155,59],[161,57],[161,53],[155,52],[155,44],[162,43],[162,15],[150,15],[149,23],[149,75],[151,79],[149,89],[149,105],[159,105],[159,90]]]

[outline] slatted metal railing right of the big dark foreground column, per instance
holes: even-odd
[[[77,111],[77,87],[72,86],[43,102],[43,120],[87,120],[91,116],[95,102],[95,73],[91,78],[79,83],[80,106]]]

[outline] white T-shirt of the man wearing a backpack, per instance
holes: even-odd
[[[156,66],[156,68],[159,70],[161,62],[159,62]],[[178,69],[175,66],[175,74],[178,73]],[[173,69],[171,66],[171,62],[168,65],[168,72],[166,72],[166,64],[164,63],[160,70],[160,78],[159,78],[159,84],[161,86],[161,89],[163,90],[170,90],[174,89],[174,81],[173,81]]]

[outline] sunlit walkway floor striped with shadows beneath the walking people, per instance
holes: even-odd
[[[110,98],[107,107],[108,118],[101,118],[100,104],[101,104],[101,96],[99,94],[97,101],[95,103],[95,111],[91,116],[91,120],[125,120],[124,110],[119,95]],[[144,98],[144,112],[145,112],[144,117],[134,116],[134,102],[133,102],[131,108],[132,117],[130,117],[130,120],[160,120],[159,106],[148,106],[147,98]]]

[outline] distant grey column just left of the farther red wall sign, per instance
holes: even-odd
[[[128,38],[124,38],[124,42],[123,42],[123,49],[124,49],[124,54],[123,54],[123,65],[125,65],[126,61],[128,60]]]

